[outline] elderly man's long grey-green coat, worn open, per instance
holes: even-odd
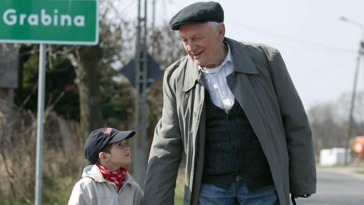
[[[225,40],[234,61],[227,84],[261,143],[280,204],[290,204],[289,193],[315,193],[312,134],[280,52],[263,44]],[[186,156],[183,204],[197,205],[204,159],[204,96],[201,73],[189,56],[166,69],[162,118],[151,146],[143,205],[174,203],[182,155]]]

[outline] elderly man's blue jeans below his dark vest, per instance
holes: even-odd
[[[201,184],[198,205],[279,205],[274,185],[249,192],[240,177],[229,190],[211,184]]]

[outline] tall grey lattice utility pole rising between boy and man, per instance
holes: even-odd
[[[141,0],[138,5],[138,36],[137,49],[135,54],[135,88],[137,94],[135,96],[135,119],[134,126],[136,134],[134,138],[134,166],[133,173],[135,180],[144,188],[145,173],[147,170],[146,159],[146,144],[147,144],[147,129],[146,129],[146,107],[147,107],[147,0],[144,0],[144,17],[141,17]]]

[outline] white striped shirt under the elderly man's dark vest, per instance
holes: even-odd
[[[225,43],[227,44],[229,51],[220,66],[215,68],[203,68],[198,66],[198,68],[202,71],[202,80],[210,94],[211,101],[228,113],[233,107],[235,97],[227,86],[226,76],[233,72],[234,64],[230,46],[227,42]]]

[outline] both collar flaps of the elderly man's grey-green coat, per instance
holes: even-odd
[[[246,74],[258,74],[258,70],[254,65],[252,57],[247,51],[246,46],[237,42],[233,39],[224,39],[233,52],[234,61],[234,72],[242,72]],[[186,72],[185,72],[185,82],[183,84],[183,91],[186,92],[195,86],[197,80],[201,80],[201,72],[198,66],[189,56],[186,56]]]

